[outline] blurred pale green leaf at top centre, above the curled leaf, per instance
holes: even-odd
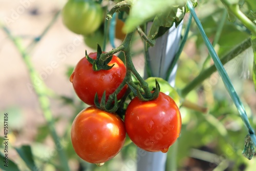
[[[132,5],[130,16],[127,18],[123,29],[125,32],[131,32],[140,24],[153,20],[156,15],[166,13],[172,8],[183,7],[185,5],[185,0],[137,0]]]

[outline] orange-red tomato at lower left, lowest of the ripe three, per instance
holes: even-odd
[[[83,109],[71,128],[76,154],[90,163],[103,163],[115,157],[123,147],[125,134],[119,116],[96,107]]]

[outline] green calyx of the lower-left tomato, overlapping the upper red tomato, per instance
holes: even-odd
[[[114,103],[114,105],[113,105],[113,103]],[[101,110],[114,113],[118,109],[117,94],[114,93],[114,99],[109,97],[108,101],[106,101],[106,91],[104,91],[101,101],[99,103],[98,93],[96,92],[95,98],[94,98],[94,104],[97,108],[99,108]]]

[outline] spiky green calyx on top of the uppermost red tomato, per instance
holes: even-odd
[[[101,47],[100,47],[99,44],[97,44],[97,58],[96,58],[96,60],[90,58],[89,55],[87,54],[87,51],[86,51],[86,59],[88,60],[89,63],[91,63],[93,65],[93,70],[94,71],[109,70],[115,65],[115,64],[113,64],[112,66],[108,65],[110,63],[110,61],[112,60],[113,55],[106,58],[106,60],[103,61],[103,63],[100,63],[100,55],[101,54],[102,54],[102,50],[101,50]]]

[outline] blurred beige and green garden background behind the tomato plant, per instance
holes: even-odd
[[[0,0],[0,22],[13,36],[20,37],[20,45],[27,47],[45,30],[65,3],[62,0]],[[209,39],[213,41],[221,18],[227,17],[223,16],[224,6],[219,1],[200,1],[196,10]],[[184,18],[184,28],[187,18],[188,15]],[[222,56],[249,36],[241,23],[225,20],[215,48]],[[120,43],[120,40],[116,40],[116,45]],[[135,44],[135,51],[141,52],[142,42],[138,39]],[[63,25],[61,15],[33,46],[30,46],[31,63],[48,88],[56,131],[71,170],[136,170],[138,156],[133,143],[125,146],[120,154],[101,167],[82,161],[72,148],[70,126],[77,113],[86,106],[76,97],[69,75],[84,56],[84,51],[93,52],[95,49],[84,44],[81,35],[69,31]],[[108,44],[106,51],[111,49]],[[207,55],[193,22],[178,62],[177,89],[184,88],[197,77]],[[143,53],[136,53],[133,60],[136,69],[143,75]],[[255,128],[253,114],[256,112],[256,93],[252,81],[252,61],[252,49],[248,48],[228,62],[225,68]],[[211,64],[209,60],[206,68]],[[29,170],[14,147],[30,145],[37,170],[60,170],[56,147],[29,78],[29,70],[3,29],[0,30],[0,68],[0,137],[4,136],[3,115],[8,113],[9,159],[20,170]],[[219,74],[215,72],[201,86],[190,91],[186,100],[198,105],[199,109],[181,107],[181,136],[175,149],[168,152],[167,165],[175,158],[179,170],[254,170],[255,159],[249,161],[241,155],[247,130]],[[3,143],[0,147],[3,153]]]

